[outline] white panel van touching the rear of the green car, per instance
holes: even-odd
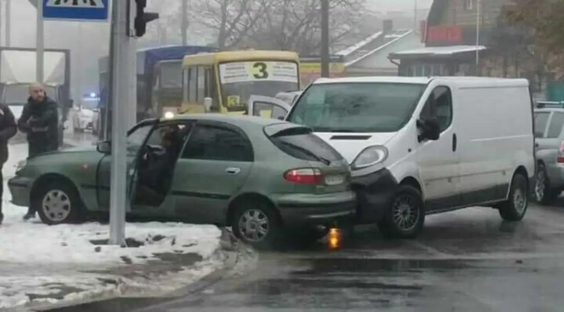
[[[286,118],[350,162],[358,222],[409,238],[426,214],[468,206],[521,220],[534,185],[532,116],[525,79],[350,77],[316,80]]]

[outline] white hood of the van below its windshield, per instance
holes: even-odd
[[[386,133],[336,133],[315,132],[315,134],[329,143],[337,152],[345,157],[349,164],[355,160],[360,152],[373,145],[384,145],[396,134]]]

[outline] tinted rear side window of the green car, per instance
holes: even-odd
[[[253,148],[239,131],[215,125],[196,125],[182,159],[253,161]]]

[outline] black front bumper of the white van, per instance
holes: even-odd
[[[356,223],[375,223],[384,218],[397,188],[398,181],[386,168],[367,175],[352,177],[352,190],[356,192],[358,199]]]

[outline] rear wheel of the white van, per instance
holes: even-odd
[[[515,173],[511,181],[509,198],[499,206],[499,214],[505,221],[521,221],[528,208],[527,178]]]

